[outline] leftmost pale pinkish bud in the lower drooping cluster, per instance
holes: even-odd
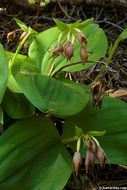
[[[73,165],[73,172],[76,173],[76,176],[78,175],[78,169],[82,164],[82,156],[80,152],[75,152],[72,160]]]

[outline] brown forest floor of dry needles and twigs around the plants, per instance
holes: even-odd
[[[3,44],[7,51],[15,52],[21,32],[17,32],[14,41],[7,41],[7,34],[18,28],[14,17],[35,28],[36,12],[34,10],[28,10],[25,7],[4,4],[1,0],[0,8],[6,8],[0,11],[0,43]],[[64,5],[63,8],[75,21],[84,21],[94,17],[94,22],[99,24],[105,31],[108,44],[114,43],[119,34],[127,28],[127,10],[122,7],[119,7],[119,9],[86,7],[85,5],[79,4],[78,6]],[[38,31],[41,32],[55,26],[53,18],[61,19],[61,21],[66,23],[72,22],[61,11],[58,4],[54,4],[53,6],[48,5],[40,11]],[[79,82],[89,84],[97,76],[100,68],[101,65],[97,64],[90,69],[75,73],[75,77],[78,78]],[[127,102],[127,40],[119,44],[105,74],[105,78],[107,81],[106,90],[110,90],[110,95],[115,91],[114,96],[122,97],[122,100]],[[92,173],[87,176],[84,174],[85,169],[82,166],[79,176],[75,177],[72,175],[64,190],[91,190],[99,189],[99,187],[100,189],[102,187],[110,187],[110,189],[111,187],[112,189],[114,187],[121,187],[122,189],[123,187],[123,189],[127,189],[127,169],[124,166],[111,165],[111,168],[109,168],[106,165],[102,170],[99,165],[96,165]]]

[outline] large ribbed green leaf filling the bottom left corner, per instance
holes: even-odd
[[[0,138],[0,189],[61,190],[72,172],[54,124],[34,117],[13,124]]]

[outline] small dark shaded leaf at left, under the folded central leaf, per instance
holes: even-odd
[[[2,106],[4,111],[14,119],[26,118],[34,115],[35,108],[22,93],[14,93],[6,89]]]

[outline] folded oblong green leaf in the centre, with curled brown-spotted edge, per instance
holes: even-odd
[[[28,100],[42,112],[58,116],[73,115],[88,102],[84,87],[71,81],[65,83],[39,73],[21,73],[12,68],[15,79]],[[65,106],[67,105],[67,106]]]

